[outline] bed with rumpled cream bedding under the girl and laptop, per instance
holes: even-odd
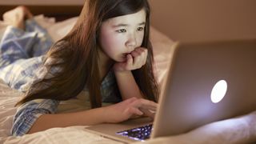
[[[68,18],[62,22],[56,22],[55,18],[48,18],[44,15],[35,17],[36,21],[49,31],[54,41],[62,38],[74,25],[77,17]],[[6,26],[0,22],[0,38]],[[151,26],[151,42],[154,46],[154,61],[157,81],[162,86],[166,78],[166,67],[171,62],[172,46],[174,42]],[[11,90],[6,84],[0,81],[0,143],[120,143],[114,140],[100,137],[86,131],[85,126],[70,126],[66,128],[53,128],[34,134],[26,134],[22,137],[10,135],[12,120],[16,111],[15,102],[20,98],[21,93]],[[63,102],[62,111],[67,112],[74,109],[70,103]],[[79,106],[76,110],[82,110]],[[213,122],[201,126],[186,134],[155,138],[143,143],[250,143],[256,142],[256,111],[237,118],[230,118],[220,122]],[[137,142],[136,142],[137,143]],[[138,142],[140,143],[140,142]]]

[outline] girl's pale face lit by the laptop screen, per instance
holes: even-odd
[[[126,54],[142,45],[145,22],[145,10],[102,22],[99,42],[103,52],[116,62],[126,62]]]

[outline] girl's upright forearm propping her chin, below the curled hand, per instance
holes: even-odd
[[[143,98],[131,71],[115,71],[114,74],[123,100],[132,97]]]

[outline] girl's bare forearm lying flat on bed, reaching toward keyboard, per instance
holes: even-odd
[[[29,130],[29,134],[54,127],[89,126],[107,122],[104,107],[68,114],[43,114]]]

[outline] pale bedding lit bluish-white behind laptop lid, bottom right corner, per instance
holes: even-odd
[[[229,118],[218,122],[212,122],[191,130],[186,134],[154,138],[143,143],[255,143],[255,119],[256,111],[237,118]]]

